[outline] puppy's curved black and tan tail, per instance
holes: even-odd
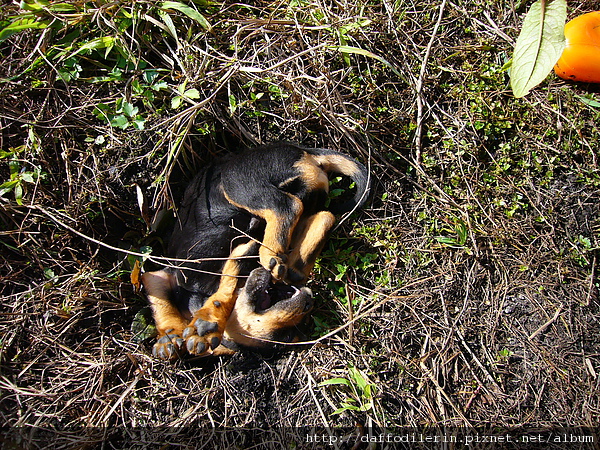
[[[369,199],[371,193],[371,179],[367,168],[350,156],[334,150],[315,148],[308,150],[319,165],[327,173],[346,175],[354,181],[356,193],[351,200],[342,203],[333,203],[329,208],[334,214],[341,214],[361,208]]]

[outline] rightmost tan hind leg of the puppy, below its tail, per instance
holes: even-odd
[[[297,225],[289,257],[288,281],[306,281],[334,224],[335,216],[332,213],[320,211]]]

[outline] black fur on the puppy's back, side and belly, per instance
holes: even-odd
[[[185,191],[181,206],[177,210],[177,220],[169,242],[168,254],[178,259],[196,260],[216,258],[213,261],[184,263],[181,268],[190,268],[178,275],[179,291],[174,295],[181,303],[202,305],[204,300],[215,292],[218,274],[223,261],[234,245],[244,242],[245,234],[261,240],[264,221],[248,211],[232,205],[224,195],[242,199],[254,209],[276,210],[284,218],[291,216],[289,198],[282,191],[300,198],[304,204],[304,215],[312,215],[326,208],[327,193],[321,190],[309,191],[297,178],[294,164],[304,152],[315,155],[339,155],[326,149],[304,149],[280,143],[232,154],[202,170],[192,180]],[[359,164],[359,163],[357,163]],[[343,204],[333,204],[332,212],[343,213],[362,206],[368,197],[367,171],[362,170],[353,177],[356,183],[356,196]],[[286,180],[293,180],[283,184]],[[238,231],[239,230],[239,231]],[[232,241],[235,242],[232,245]],[[256,260],[246,263],[244,273],[256,267]]]

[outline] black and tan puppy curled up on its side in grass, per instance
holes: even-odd
[[[352,199],[327,206],[328,174],[349,176]],[[304,286],[334,214],[364,205],[366,168],[325,149],[281,143],[202,170],[177,210],[173,264],[142,277],[158,338],[153,354],[228,354],[297,338],[312,308]]]

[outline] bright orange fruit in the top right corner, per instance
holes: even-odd
[[[565,80],[600,83],[600,11],[575,17],[565,25],[566,46],[554,66]]]

